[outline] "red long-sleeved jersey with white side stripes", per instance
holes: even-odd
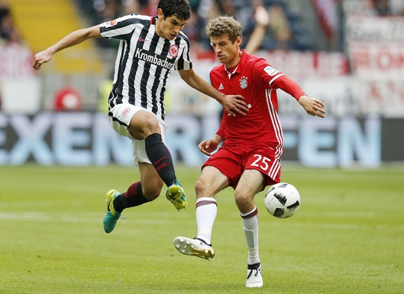
[[[224,64],[217,65],[210,71],[210,82],[221,93],[244,96],[249,112],[245,116],[224,113],[217,131],[224,139],[223,146],[271,146],[280,157],[283,132],[278,119],[276,89],[282,89],[296,100],[304,95],[303,90],[266,60],[245,51],[237,67],[231,70],[229,72]]]

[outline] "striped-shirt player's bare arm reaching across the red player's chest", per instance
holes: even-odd
[[[217,100],[229,115],[236,114],[245,115],[249,111],[247,104],[244,102],[244,97],[241,95],[225,95],[214,89],[205,80],[195,74],[193,69],[179,71],[181,78],[199,92],[208,95]]]

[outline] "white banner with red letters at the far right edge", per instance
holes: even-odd
[[[404,117],[404,17],[351,16],[347,28],[360,113]]]

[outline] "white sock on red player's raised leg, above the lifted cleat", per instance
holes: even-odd
[[[217,202],[214,198],[202,197],[196,200],[196,226],[198,236],[207,244],[210,244],[214,219],[217,215]]]

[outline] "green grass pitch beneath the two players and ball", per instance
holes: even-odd
[[[283,166],[302,205],[260,211],[264,287],[246,289],[246,245],[233,189],[219,193],[212,261],[187,257],[175,236],[196,234],[199,168],[178,166],[189,206],[164,196],[124,211],[103,232],[105,193],[137,168],[0,167],[0,293],[404,293],[404,169]]]

